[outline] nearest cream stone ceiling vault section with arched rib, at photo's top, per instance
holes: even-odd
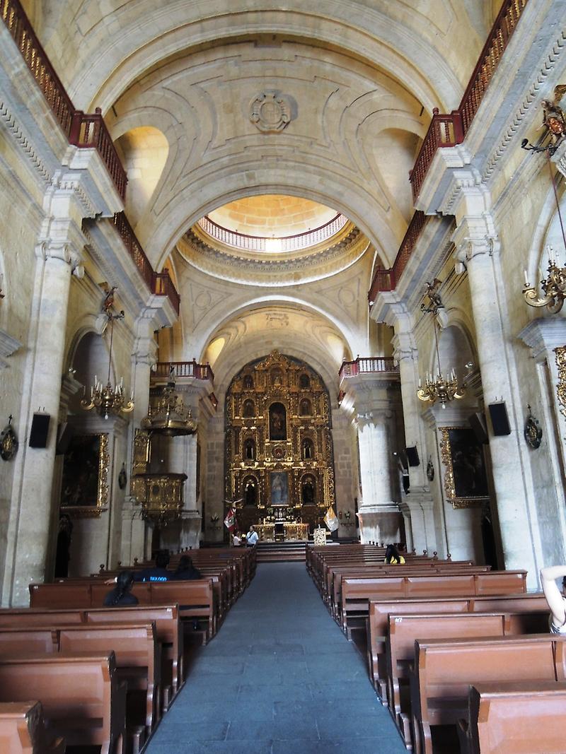
[[[232,0],[229,13],[224,0],[126,0],[109,13],[108,5],[60,0],[33,14],[46,51],[60,61],[60,78],[83,109],[97,104],[106,111],[141,71],[165,58],[251,34],[334,45],[392,72],[429,112],[451,109],[482,40],[466,0],[290,0],[285,11],[278,0],[254,8]]]

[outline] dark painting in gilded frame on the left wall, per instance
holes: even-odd
[[[75,435],[63,458],[60,512],[92,518],[107,510],[109,464],[107,433]]]

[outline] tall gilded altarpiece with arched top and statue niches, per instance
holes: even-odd
[[[273,351],[226,394],[226,500],[238,524],[318,526],[334,504],[328,391],[306,363]]]

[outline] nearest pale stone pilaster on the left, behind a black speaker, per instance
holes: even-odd
[[[69,241],[51,240],[36,247],[20,452],[14,474],[19,483],[14,482],[8,525],[5,604],[28,605],[28,584],[45,578],[69,287],[71,274],[84,274],[79,248]],[[51,417],[47,446],[29,448],[32,418],[38,411]]]

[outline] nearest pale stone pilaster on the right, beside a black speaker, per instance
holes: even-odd
[[[537,585],[537,559],[540,561],[542,554],[540,532],[534,513],[534,490],[529,489],[531,485],[522,471],[527,464],[519,448],[522,427],[514,406],[517,381],[503,329],[505,308],[498,292],[503,280],[499,267],[495,268],[499,242],[493,232],[486,233],[486,216],[463,219],[454,241],[460,271],[464,267],[468,271],[484,400],[490,403],[503,398],[511,425],[510,435],[495,437],[491,433],[489,438],[505,566],[527,569],[528,583],[533,588]],[[532,547],[529,542],[533,542]]]

